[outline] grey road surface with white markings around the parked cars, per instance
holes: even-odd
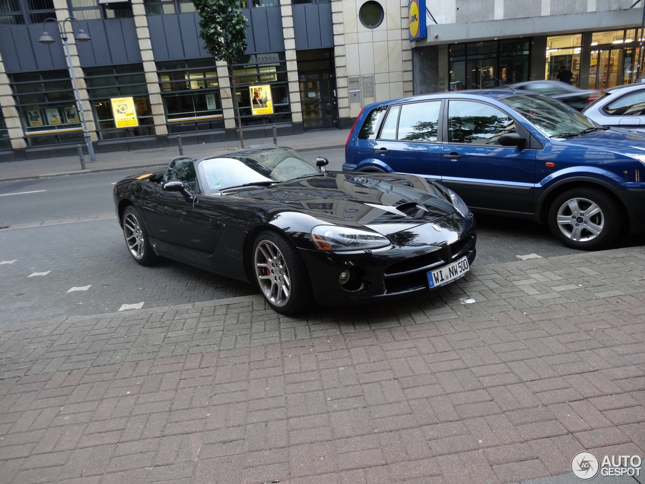
[[[339,169],[342,150],[317,150]],[[181,263],[141,267],[130,257],[114,217],[112,184],[141,170],[0,183],[0,330],[26,321],[117,312],[255,294],[254,287]],[[72,221],[78,219],[86,221]],[[94,221],[88,221],[98,217]],[[48,225],[38,225],[50,221]],[[477,217],[477,259],[484,265],[575,254],[548,229],[527,221]],[[642,245],[626,237],[614,247]],[[132,306],[130,306],[132,307]]]

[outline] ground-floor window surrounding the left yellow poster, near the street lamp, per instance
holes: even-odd
[[[85,68],[84,74],[99,139],[155,134],[143,65]],[[133,98],[139,126],[117,128],[112,110],[113,97]]]

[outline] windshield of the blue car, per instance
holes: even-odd
[[[526,117],[544,136],[569,137],[602,128],[584,114],[541,94],[518,94],[499,101]]]

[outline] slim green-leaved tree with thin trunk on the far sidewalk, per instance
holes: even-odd
[[[192,0],[199,12],[199,36],[204,46],[217,61],[225,61],[231,86],[233,105],[237,113],[240,143],[244,148],[240,110],[235,96],[235,79],[231,65],[246,50],[246,17],[239,0]]]

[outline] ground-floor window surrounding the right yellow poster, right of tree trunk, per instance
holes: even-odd
[[[244,63],[233,65],[235,97],[240,108],[242,125],[263,125],[291,122],[289,85],[284,52],[267,54],[277,62],[259,64],[255,55],[245,55]],[[270,90],[272,107],[268,114],[253,114],[251,92],[255,86]],[[266,87],[268,86],[268,87]]]

